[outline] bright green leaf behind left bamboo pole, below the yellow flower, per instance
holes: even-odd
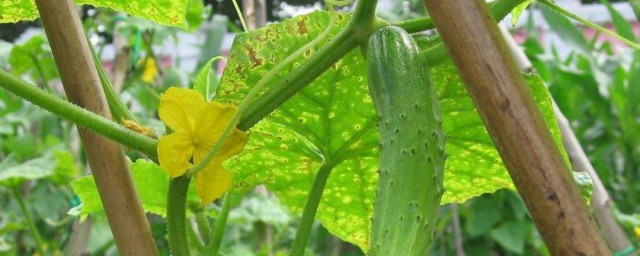
[[[169,174],[157,164],[138,160],[131,165],[131,175],[140,196],[144,210],[148,213],[165,216],[167,211],[167,191],[169,190]],[[73,192],[80,197],[82,205],[80,209],[71,211],[79,214],[91,214],[104,211],[100,194],[93,176],[84,176],[71,182]],[[194,189],[189,189],[187,201],[189,204],[198,204],[199,197]]]

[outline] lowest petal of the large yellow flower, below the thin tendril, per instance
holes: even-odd
[[[231,172],[222,167],[221,162],[211,162],[205,169],[196,174],[196,192],[202,199],[200,205],[205,206],[220,198],[231,188]]]

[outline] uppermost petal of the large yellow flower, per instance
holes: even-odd
[[[205,105],[199,92],[170,87],[160,97],[158,115],[173,131],[193,134],[196,117]]]

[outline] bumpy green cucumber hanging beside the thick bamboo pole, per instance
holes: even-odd
[[[369,255],[428,255],[446,159],[436,91],[425,56],[401,28],[375,31],[367,47],[381,148]]]

